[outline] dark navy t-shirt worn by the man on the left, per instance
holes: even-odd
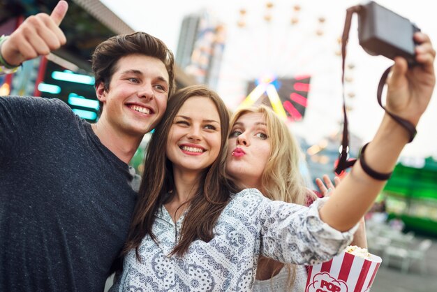
[[[62,101],[0,97],[0,291],[103,291],[132,178]]]

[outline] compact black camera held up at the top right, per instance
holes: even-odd
[[[387,58],[404,57],[414,65],[415,41],[413,34],[420,31],[410,20],[378,3],[369,1],[358,11],[358,39],[362,48],[371,55]]]

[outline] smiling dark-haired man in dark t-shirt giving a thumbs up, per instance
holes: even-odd
[[[29,17],[1,41],[0,71],[56,50],[68,5]],[[101,117],[57,100],[0,97],[0,291],[103,291],[136,193],[128,168],[174,91],[173,55],[145,33],[92,56]]]

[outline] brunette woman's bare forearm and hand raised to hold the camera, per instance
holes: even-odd
[[[414,126],[427,109],[436,83],[436,51],[426,34],[416,33],[415,41],[419,43],[415,52],[420,65],[408,68],[405,59],[395,59],[392,74],[387,80],[386,105],[388,111]],[[379,173],[390,173],[408,138],[408,132],[386,113],[375,137],[366,148],[366,164]],[[339,187],[332,192],[331,198],[320,208],[320,218],[339,231],[348,230],[360,221],[384,184],[385,181],[367,175],[360,162],[355,163]]]

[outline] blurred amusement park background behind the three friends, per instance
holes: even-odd
[[[0,34],[10,34],[29,15],[50,13],[56,3],[1,0]],[[362,2],[68,3],[70,8],[61,24],[68,43],[47,57],[24,62],[17,73],[0,77],[0,95],[60,98],[77,115],[94,122],[98,119],[98,102],[91,53],[114,34],[146,31],[161,38],[175,53],[179,88],[206,84],[221,95],[230,110],[242,104],[274,105],[301,144],[302,173],[309,187],[313,188],[313,180],[325,173],[334,177],[343,126],[341,34],[346,8]],[[378,3],[408,18],[437,42],[431,1]],[[370,56],[360,47],[355,15],[344,85],[352,157],[371,140],[383,116],[376,88],[380,75],[391,64],[390,59]],[[437,286],[436,112],[434,96],[417,126],[414,142],[403,150],[392,178],[366,217],[369,249],[383,256],[383,268],[372,291],[435,291]],[[148,139],[145,136],[131,161],[139,173],[144,169]]]

